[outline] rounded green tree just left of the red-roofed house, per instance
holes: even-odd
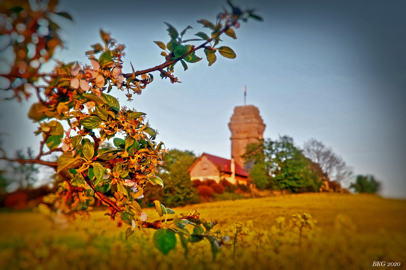
[[[147,189],[146,196],[149,205],[154,200],[160,200],[169,207],[184,206],[200,202],[196,188],[190,181],[189,167],[196,160],[192,151],[173,149],[164,157],[164,165],[156,174],[165,183],[163,188],[153,186]]]

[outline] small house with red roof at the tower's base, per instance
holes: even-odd
[[[225,159],[203,153],[189,168],[190,180],[213,179],[217,183],[225,179],[232,184],[248,184],[248,173],[234,162],[234,159]]]

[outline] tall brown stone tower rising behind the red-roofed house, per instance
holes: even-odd
[[[237,106],[229,122],[231,130],[231,157],[244,168],[244,159],[247,144],[263,139],[265,124],[259,110],[253,105]]]

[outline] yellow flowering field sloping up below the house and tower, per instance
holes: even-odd
[[[373,195],[298,194],[220,201],[194,205],[201,217],[216,219],[224,231],[235,221],[245,225],[244,248],[222,248],[211,262],[207,241],[190,244],[184,261],[178,246],[168,257],[136,232],[125,240],[127,225],[116,223],[102,211],[91,219],[64,228],[35,212],[0,213],[0,269],[375,269],[374,261],[399,262],[406,269],[406,201]],[[176,213],[190,207],[175,208]],[[148,221],[158,219],[155,209],[145,209]],[[283,233],[295,213],[310,213],[317,220],[313,239]],[[341,214],[341,219],[337,216]],[[281,219],[279,220],[281,222]],[[275,226],[276,225],[276,226]],[[273,226],[273,228],[272,228]],[[216,229],[215,227],[215,229]],[[282,229],[282,230],[281,230]],[[258,233],[263,234],[258,238]],[[296,238],[295,238],[296,237]]]

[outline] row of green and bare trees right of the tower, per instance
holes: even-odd
[[[303,149],[286,135],[277,140],[261,140],[248,144],[243,157],[246,167],[250,168],[250,182],[261,190],[342,191],[341,184],[350,181],[353,174],[341,157],[315,139],[305,142]],[[356,192],[377,192],[379,183],[373,177],[368,181],[365,178],[367,176],[357,176],[350,188]]]

